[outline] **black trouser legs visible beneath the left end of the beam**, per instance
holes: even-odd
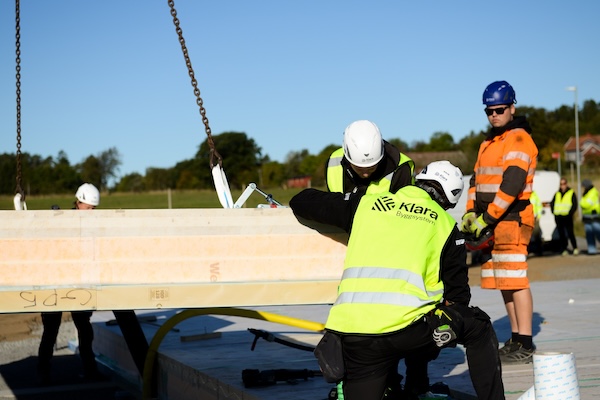
[[[92,341],[94,340],[94,330],[90,322],[92,311],[72,311],[71,316],[77,328],[79,356],[83,363],[84,375],[92,377],[97,373],[96,355],[92,350]],[[62,312],[42,313],[44,332],[38,349],[38,369],[40,371],[50,370],[50,362],[54,354],[54,345],[56,344],[61,321]]]

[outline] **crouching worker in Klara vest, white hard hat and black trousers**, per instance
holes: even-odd
[[[381,400],[402,358],[458,342],[478,398],[504,399],[498,340],[487,314],[469,307],[465,241],[446,212],[462,193],[462,173],[439,161],[415,179],[396,193],[305,189],[291,199],[296,216],[350,233],[338,297],[315,350],[319,364],[345,400]],[[442,322],[454,334],[446,331],[445,342]],[[333,357],[325,355],[328,343]]]

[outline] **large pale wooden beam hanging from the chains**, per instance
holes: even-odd
[[[0,312],[334,301],[347,235],[289,208],[0,211]]]

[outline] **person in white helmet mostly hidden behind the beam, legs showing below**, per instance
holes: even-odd
[[[100,204],[100,192],[91,183],[84,183],[75,193],[74,208],[76,210],[93,210]],[[53,209],[57,209],[54,207]],[[79,339],[79,355],[83,363],[84,380],[95,381],[104,377],[98,372],[96,356],[92,350],[94,331],[90,318],[92,311],[72,311],[73,323],[77,328]],[[51,360],[54,354],[54,346],[58,337],[58,330],[62,321],[62,312],[43,312],[42,324],[44,331],[38,349],[37,371],[39,383],[49,385],[52,383]]]

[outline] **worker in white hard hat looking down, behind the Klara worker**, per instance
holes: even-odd
[[[327,161],[325,182],[330,192],[350,193],[368,187],[369,193],[390,191],[414,183],[415,164],[381,137],[375,123],[354,121],[344,131],[343,146]]]

